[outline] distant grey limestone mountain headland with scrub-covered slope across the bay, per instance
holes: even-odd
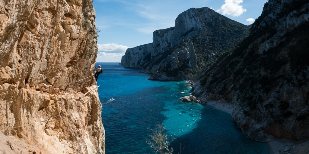
[[[151,79],[188,79],[232,50],[248,30],[249,26],[208,7],[191,8],[176,18],[175,27],[156,30],[153,43],[128,49],[121,64],[142,68],[142,72],[153,74]]]

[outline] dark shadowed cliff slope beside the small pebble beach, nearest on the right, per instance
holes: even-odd
[[[203,70],[194,94],[233,103],[250,139],[308,140],[308,11],[308,1],[269,0],[248,38]]]

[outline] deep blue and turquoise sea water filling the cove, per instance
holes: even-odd
[[[172,142],[174,153],[182,154],[253,154],[269,153],[266,143],[247,140],[231,115],[208,105],[181,103],[190,95],[185,82],[147,80],[150,75],[139,69],[124,68],[118,63],[101,65],[99,98],[105,128],[106,154],[154,153],[146,144],[148,128],[163,124]]]

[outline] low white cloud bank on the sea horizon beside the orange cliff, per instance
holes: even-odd
[[[130,48],[115,43],[97,44],[98,54],[97,62],[120,62],[125,51]]]

